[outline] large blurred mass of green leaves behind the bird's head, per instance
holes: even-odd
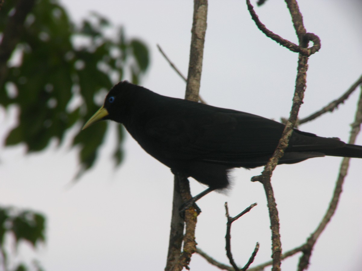
[[[0,35],[15,6],[14,0],[4,1]],[[5,146],[25,143],[28,152],[38,152],[46,149],[51,139],[62,144],[66,131],[75,124],[80,130],[100,107],[100,98],[125,73],[138,83],[148,64],[146,45],[127,38],[122,27],[114,27],[105,17],[92,13],[76,25],[57,1],[35,1],[8,61],[6,76],[0,80],[0,105],[19,110],[17,125]],[[107,125],[91,126],[73,138],[71,146],[80,150],[80,173],[92,167]],[[117,133],[114,159],[118,165],[123,155],[121,127]]]

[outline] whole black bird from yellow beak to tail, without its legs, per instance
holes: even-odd
[[[211,189],[228,186],[231,168],[265,165],[284,129],[264,117],[162,96],[127,81],[109,91],[104,106],[84,128],[106,119],[122,123],[145,151],[173,172]],[[279,164],[325,155],[362,158],[362,146],[294,129]]]

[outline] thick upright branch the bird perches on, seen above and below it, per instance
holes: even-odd
[[[205,41],[206,33],[206,20],[207,20],[207,0],[194,0],[194,14],[193,14],[193,27],[191,36],[190,47],[190,61],[189,61],[189,73],[186,82],[185,99],[198,101],[200,79],[202,71],[202,58],[203,58],[203,44]],[[180,189],[178,189],[178,187]],[[178,195],[176,195],[178,194]],[[177,236],[170,237],[179,240],[183,231],[184,223],[180,222],[179,218],[176,218],[176,211],[180,210],[183,202],[188,201],[191,198],[190,186],[187,178],[182,178],[175,175],[174,178],[174,198],[173,198],[173,215],[171,225],[177,225]],[[182,201],[180,201],[182,199]],[[165,270],[182,270],[183,267],[188,268],[188,264],[191,260],[191,255],[196,250],[195,242],[195,227],[197,222],[197,212],[193,207],[190,207],[185,211],[185,235],[183,238],[184,249],[181,253],[181,246],[179,243],[177,246],[169,244],[168,259]],[[180,231],[182,225],[182,231]]]

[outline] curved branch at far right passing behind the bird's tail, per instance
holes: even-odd
[[[355,113],[355,119],[352,123],[352,130],[350,133],[350,138],[348,143],[354,144],[357,138],[358,133],[361,130],[361,123],[362,123],[362,86],[361,86],[361,94],[359,96],[358,100],[358,106],[357,111]],[[312,254],[313,246],[315,245],[317,239],[321,235],[321,233],[324,231],[325,227],[331,220],[332,216],[336,212],[337,205],[340,199],[340,195],[342,193],[342,186],[345,180],[345,177],[347,175],[347,171],[349,168],[349,157],[345,157],[342,160],[341,166],[340,166],[340,172],[338,174],[336,186],[334,188],[333,197],[331,202],[329,203],[329,207],[327,212],[325,213],[322,221],[318,225],[317,229],[311,234],[311,236],[307,240],[307,248],[303,250],[303,255],[299,259],[298,264],[298,271],[303,271],[308,268],[310,257]]]

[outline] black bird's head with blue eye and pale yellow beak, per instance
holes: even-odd
[[[132,90],[134,87],[136,85],[127,81],[121,81],[112,87],[104,100],[103,106],[84,124],[82,130],[101,120],[122,122],[123,111],[127,107],[124,104],[125,96],[129,92],[128,90]]]

